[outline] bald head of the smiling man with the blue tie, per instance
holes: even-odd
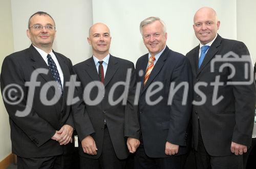
[[[214,9],[209,7],[200,8],[194,16],[194,31],[200,42],[205,45],[217,36],[220,21]]]

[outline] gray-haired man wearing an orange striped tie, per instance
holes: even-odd
[[[136,63],[137,82],[141,83],[141,145],[135,168],[182,168],[191,111],[189,61],[166,46],[166,28],[160,18],[143,20],[140,32],[148,53]]]

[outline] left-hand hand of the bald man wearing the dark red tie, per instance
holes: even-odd
[[[91,135],[88,135],[87,137],[82,139],[81,142],[82,150],[84,153],[90,154],[90,155],[96,155],[97,154],[97,147],[95,144],[95,141]]]

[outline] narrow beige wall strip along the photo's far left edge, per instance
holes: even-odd
[[[0,66],[6,55],[13,52],[11,0],[0,1]],[[0,94],[1,95],[1,94]],[[2,98],[2,95],[0,96]],[[0,99],[0,161],[11,153],[9,118]]]

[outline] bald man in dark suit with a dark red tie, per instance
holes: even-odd
[[[98,84],[102,88],[87,88],[84,93],[92,102],[84,102],[84,114],[74,111],[75,127],[81,141],[80,168],[124,168],[125,158],[129,152],[134,153],[140,144],[138,108],[134,106],[134,64],[109,53],[111,36],[105,24],[92,25],[87,40],[93,55],[74,66],[77,79],[81,82],[79,93],[82,94],[82,90],[90,85]],[[124,85],[115,88],[117,82],[126,81],[129,71],[127,91]],[[96,101],[97,97],[99,101]]]

